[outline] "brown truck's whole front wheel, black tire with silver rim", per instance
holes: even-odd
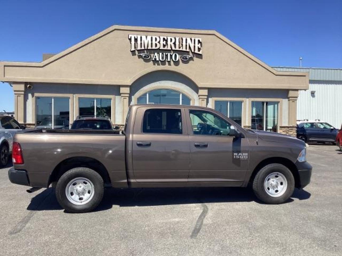
[[[279,204],[292,196],[294,178],[284,165],[272,163],[263,167],[253,181],[254,194],[264,203]]]

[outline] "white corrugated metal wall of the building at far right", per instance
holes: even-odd
[[[317,74],[316,74],[317,75]],[[315,97],[311,91],[316,91]],[[320,119],[336,128],[342,123],[342,82],[310,81],[309,89],[299,91],[297,119]]]

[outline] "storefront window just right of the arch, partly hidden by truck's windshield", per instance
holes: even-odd
[[[242,125],[242,101],[215,100],[215,110]]]

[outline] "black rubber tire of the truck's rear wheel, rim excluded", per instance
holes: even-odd
[[[68,183],[76,178],[86,178],[93,185],[93,196],[84,204],[71,202],[66,195]],[[84,213],[94,210],[102,201],[104,194],[104,182],[100,174],[86,167],[78,167],[64,173],[56,185],[56,198],[61,207],[70,213]]]

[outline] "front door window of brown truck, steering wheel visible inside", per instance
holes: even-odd
[[[203,110],[189,110],[195,135],[229,135],[231,124],[221,117]]]

